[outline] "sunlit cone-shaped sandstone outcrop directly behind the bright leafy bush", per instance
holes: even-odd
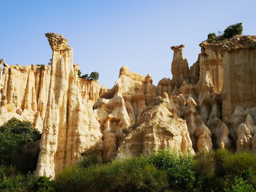
[[[165,103],[151,113],[144,116],[142,123],[124,138],[118,148],[118,158],[140,154],[151,156],[152,150],[165,147],[195,154],[185,120],[170,113]]]

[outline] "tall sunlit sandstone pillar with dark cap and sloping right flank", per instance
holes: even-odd
[[[90,103],[82,103],[68,40],[55,33],[46,36],[53,56],[36,174],[54,178],[63,166],[78,163],[81,154],[100,154],[102,134]]]

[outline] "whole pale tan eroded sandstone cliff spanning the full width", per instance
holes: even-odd
[[[203,41],[190,69],[184,45],[174,46],[172,79],[154,86],[124,66],[112,89],[80,79],[68,40],[46,36],[52,66],[4,64],[0,74],[0,124],[14,116],[42,132],[38,176],[54,178],[87,154],[113,160],[165,147],[194,154],[228,149],[231,140],[238,152],[256,153],[255,36]]]

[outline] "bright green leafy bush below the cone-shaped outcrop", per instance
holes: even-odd
[[[194,159],[191,154],[177,154],[166,148],[153,153],[150,162],[158,169],[167,172],[169,188],[172,190],[190,191],[195,182],[192,170]]]

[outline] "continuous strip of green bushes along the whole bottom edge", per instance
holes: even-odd
[[[99,163],[88,156],[57,176],[36,178],[0,166],[0,191],[255,191],[256,155],[211,151],[192,157],[166,148],[152,157]]]

